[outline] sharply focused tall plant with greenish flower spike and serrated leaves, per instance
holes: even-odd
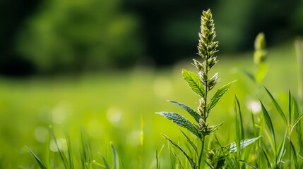
[[[173,142],[172,139],[166,135],[163,135],[172,145],[182,151],[182,154],[186,156],[186,159],[188,160],[191,168],[199,169],[202,166],[202,161],[206,161],[203,159],[206,136],[218,130],[218,128],[222,125],[222,123],[220,123],[218,125],[208,126],[208,115],[217,105],[218,101],[225,94],[225,92],[230,89],[230,85],[233,83],[230,82],[228,84],[225,84],[223,87],[218,89],[217,92],[215,92],[211,99],[208,99],[208,93],[215,87],[215,84],[219,82],[218,73],[215,73],[212,77],[209,78],[210,69],[213,68],[216,63],[218,63],[217,58],[214,56],[214,54],[218,51],[216,49],[218,47],[218,42],[214,42],[215,36],[215,26],[213,23],[212,14],[208,9],[208,11],[203,11],[203,15],[201,17],[201,32],[199,33],[200,39],[198,43],[198,55],[201,56],[204,61],[201,63],[194,59],[194,65],[198,69],[198,75],[195,75],[188,70],[182,70],[184,80],[186,80],[186,82],[189,84],[189,87],[191,87],[191,89],[196,94],[201,96],[198,104],[198,110],[194,111],[192,108],[189,108],[189,106],[181,104],[177,101],[172,101],[173,104],[177,104],[178,106],[184,108],[196,120],[197,124],[191,123],[189,120],[184,118],[182,115],[179,115],[178,113],[158,113],[160,115],[163,115],[168,120],[172,120],[177,125],[184,127],[186,130],[189,130],[189,132],[194,134],[201,141],[201,148],[197,152],[198,145],[191,142],[186,134],[182,132],[186,137],[186,141],[194,148],[198,154],[198,156],[190,156],[177,143]],[[217,151],[210,151],[211,153],[208,154],[208,161],[210,161],[210,163],[208,163],[208,165],[210,168],[225,167],[225,156],[229,156],[229,154],[237,152],[239,149],[243,149],[245,146],[248,146],[252,142],[255,142],[257,139],[259,139],[259,137],[244,140],[241,142],[239,139],[237,139],[237,146],[235,146],[236,143],[230,144],[230,146],[227,146],[227,151],[221,151],[221,149],[223,149],[222,147]]]

